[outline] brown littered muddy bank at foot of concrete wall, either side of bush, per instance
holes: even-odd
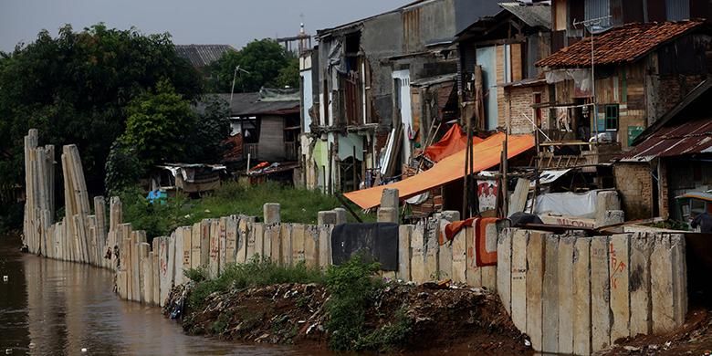
[[[179,319],[183,330],[241,342],[296,344],[326,350],[326,288],[316,284],[280,284],[232,289],[210,295],[204,309],[183,302],[190,287],[173,289],[164,313]],[[184,305],[183,311],[175,306]],[[407,319],[405,340],[392,351],[482,351],[532,353],[512,324],[497,294],[480,288],[443,288],[435,284],[391,284],[366,311],[366,330]]]

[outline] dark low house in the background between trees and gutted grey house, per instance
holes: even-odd
[[[257,93],[217,94],[230,105],[229,141],[236,160],[298,162],[299,96],[297,89],[261,89]],[[241,142],[241,147],[239,147]]]

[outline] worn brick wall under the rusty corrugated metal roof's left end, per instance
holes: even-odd
[[[615,187],[627,220],[653,215],[653,176],[647,162],[618,162],[613,166]]]

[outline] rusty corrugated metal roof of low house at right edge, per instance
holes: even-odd
[[[649,162],[655,157],[712,153],[712,118],[690,120],[661,128],[623,153],[623,162]]]

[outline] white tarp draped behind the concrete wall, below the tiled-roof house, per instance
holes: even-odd
[[[593,219],[596,217],[598,191],[583,194],[550,193],[537,197],[536,215],[569,215]]]

